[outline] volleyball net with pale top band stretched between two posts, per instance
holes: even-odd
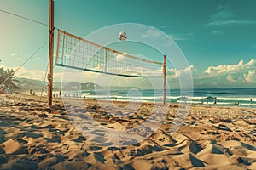
[[[58,30],[55,65],[121,77],[164,77],[165,62],[156,62],[103,47]]]

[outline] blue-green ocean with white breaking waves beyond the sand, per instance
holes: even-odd
[[[117,99],[131,101],[161,102],[163,90],[157,89],[122,89],[96,90],[79,93],[82,98],[90,99]],[[188,94],[188,95],[187,95]],[[192,103],[197,105],[213,105],[214,98],[217,105],[232,106],[235,103],[241,106],[256,107],[256,88],[200,88],[193,90],[169,89],[166,90],[166,102]],[[252,99],[252,102],[250,101]]]

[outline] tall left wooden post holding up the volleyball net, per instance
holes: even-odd
[[[53,50],[54,50],[54,1],[49,0],[49,66],[48,66],[48,106],[52,105]]]

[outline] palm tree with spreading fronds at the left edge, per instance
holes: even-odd
[[[4,85],[10,88],[11,90],[19,89],[19,87],[16,85],[17,82],[20,82],[16,79],[15,71],[13,69],[7,69],[4,70],[3,67],[0,68],[0,82]]]

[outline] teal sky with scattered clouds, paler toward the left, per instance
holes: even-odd
[[[2,10],[49,23],[48,0],[0,0],[0,3]],[[179,77],[189,72],[195,88],[255,88],[255,7],[254,0],[55,0],[55,27],[79,37],[90,37],[92,32],[116,24],[149,26],[172,38],[187,61],[187,66],[181,68],[172,65],[172,62],[167,65],[167,82],[170,87],[179,87]],[[0,66],[5,68],[17,68],[48,40],[48,26],[1,11],[0,21]],[[130,31],[130,28],[123,29]],[[99,42],[104,42],[117,38],[118,33],[113,32],[116,37],[106,34],[97,38],[101,38]],[[129,37],[143,39],[151,36],[150,41],[163,45],[160,34],[150,28],[141,35],[132,31],[127,34],[127,41]],[[125,46],[125,42],[116,41],[108,44],[109,47],[123,53],[143,54],[148,59],[162,62],[161,57],[153,56],[154,53],[149,53],[149,49],[137,43]],[[172,53],[168,55],[172,56]],[[47,63],[48,44],[23,65],[16,75],[43,80]],[[63,69],[55,66],[55,82],[61,82],[62,75]],[[84,75],[85,82],[96,82],[95,73],[87,72]],[[149,87],[148,81],[143,79],[117,79],[119,81],[113,81],[113,85],[140,83],[144,88]]]

